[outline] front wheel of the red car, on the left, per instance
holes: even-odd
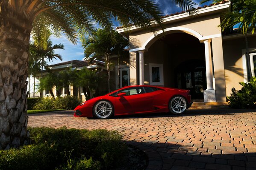
[[[106,100],[97,102],[93,107],[93,114],[98,119],[109,119],[114,113],[113,105]]]

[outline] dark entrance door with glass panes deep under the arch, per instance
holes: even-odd
[[[190,90],[192,99],[203,99],[203,91],[206,90],[205,66],[193,65],[183,66],[183,70],[177,70],[176,87]]]

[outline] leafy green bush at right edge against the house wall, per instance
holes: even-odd
[[[252,77],[250,82],[239,82],[243,87],[241,90],[232,88],[231,96],[227,97],[231,108],[255,109],[256,108],[256,78]]]

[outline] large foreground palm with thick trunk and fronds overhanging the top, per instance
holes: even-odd
[[[175,1],[187,6],[191,0]],[[110,28],[114,18],[125,28],[133,24],[153,30],[152,23],[163,28],[161,15],[152,0],[0,0],[0,150],[26,141],[30,34],[46,49],[50,29],[54,36],[64,32],[71,42],[79,36],[84,43],[94,23]]]

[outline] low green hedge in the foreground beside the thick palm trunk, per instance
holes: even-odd
[[[106,170],[126,159],[117,131],[29,128],[31,144],[0,150],[0,170]]]

